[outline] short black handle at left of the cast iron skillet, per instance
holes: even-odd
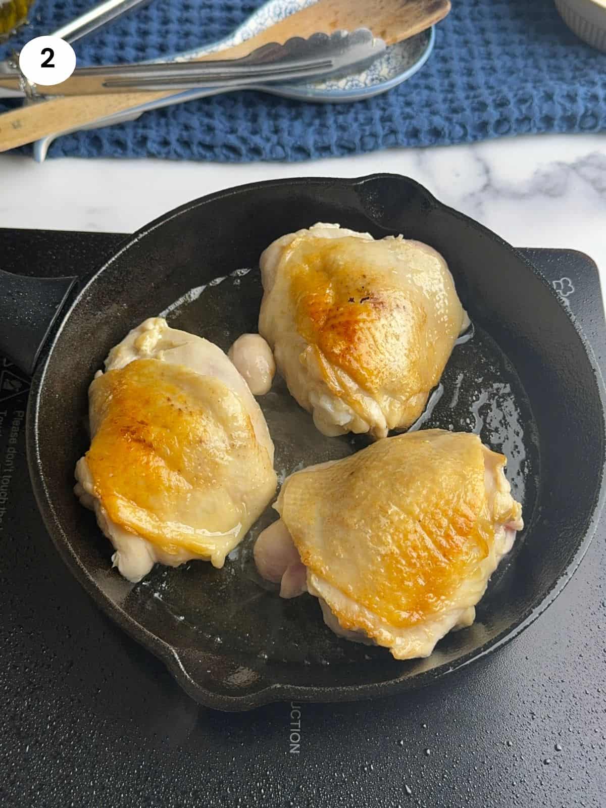
[[[28,376],[77,280],[29,278],[0,269],[0,351]]]

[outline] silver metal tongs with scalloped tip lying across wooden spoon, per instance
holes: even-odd
[[[368,28],[308,39],[293,37],[271,43],[239,59],[208,62],[153,62],[139,65],[83,67],[61,84],[33,85],[19,69],[0,73],[0,88],[29,99],[56,95],[102,95],[133,90],[191,90],[199,87],[243,87],[257,82],[347,74],[363,68],[385,52],[385,42]]]

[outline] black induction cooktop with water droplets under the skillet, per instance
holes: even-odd
[[[84,275],[121,238],[0,229],[0,263]],[[595,264],[572,250],[524,252],[604,372]],[[436,684],[389,700],[218,713],[104,617],[57,556],[27,476],[27,390],[0,358],[0,805],[606,806],[603,526],[530,628]]]

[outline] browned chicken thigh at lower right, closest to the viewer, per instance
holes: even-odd
[[[316,595],[335,633],[426,657],[473,623],[524,527],[505,464],[476,435],[430,429],[303,469],[255,544],[259,573],[282,597]]]

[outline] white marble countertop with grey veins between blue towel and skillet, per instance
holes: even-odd
[[[408,175],[515,246],[571,247],[606,288],[606,136],[549,135],[314,162],[217,164],[0,155],[0,227],[132,232],[221,188],[294,176]],[[0,262],[2,245],[0,245]]]

